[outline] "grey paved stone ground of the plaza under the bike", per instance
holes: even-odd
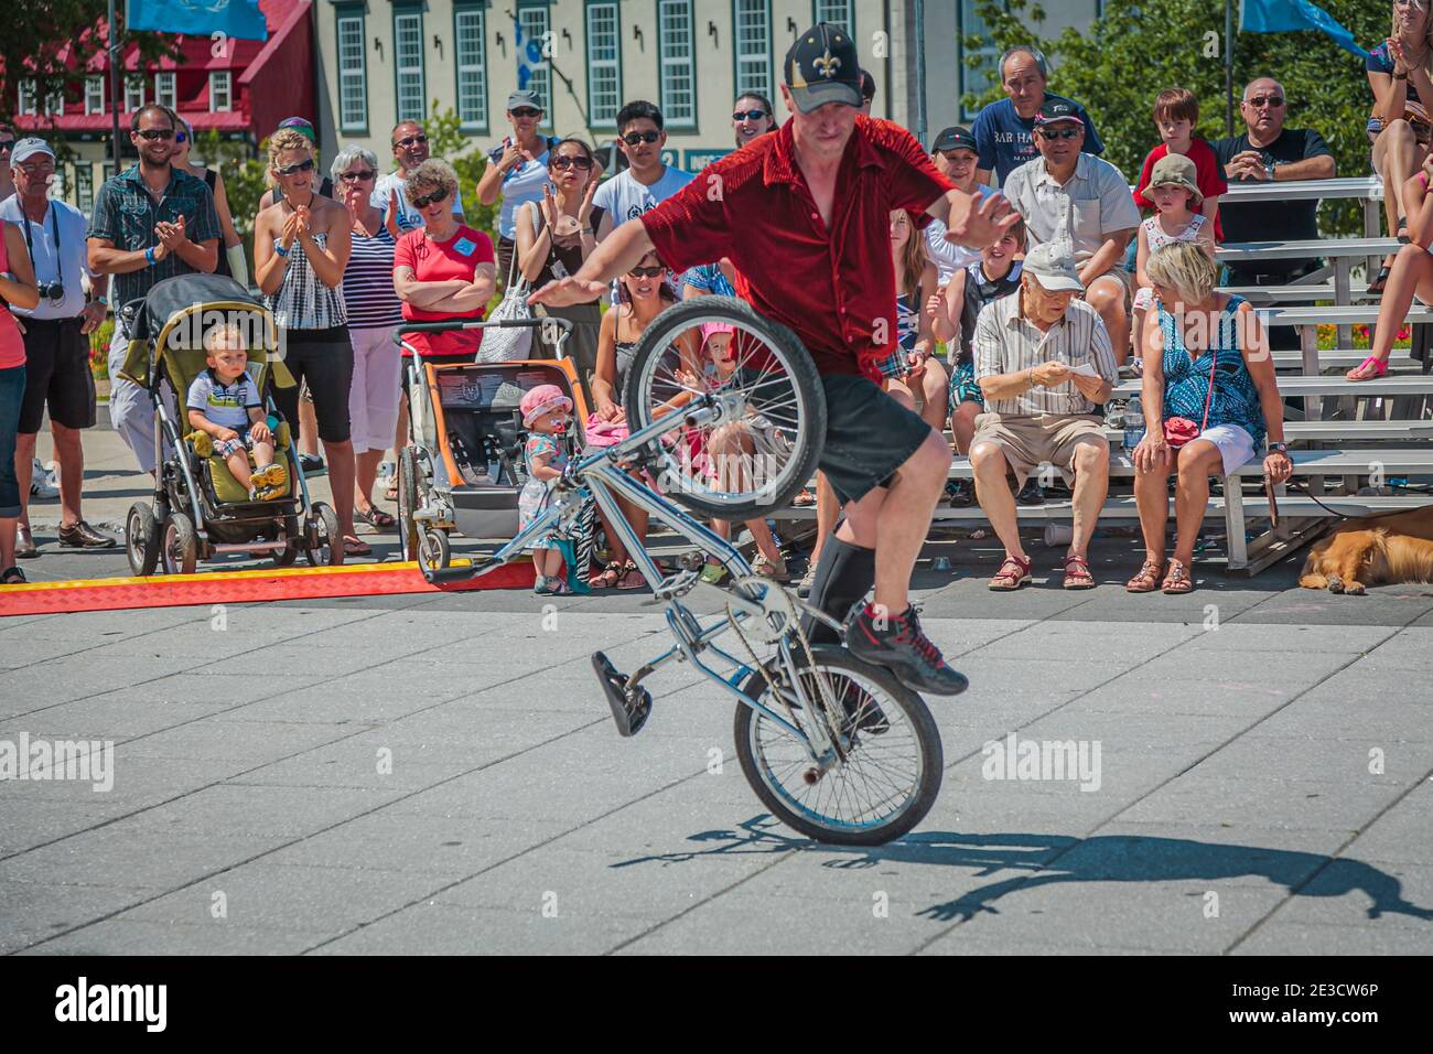
[[[588,657],[663,650],[642,595],[0,619],[0,741],[115,743],[109,792],[0,782],[0,951],[1433,952],[1433,588],[1128,597],[1111,536],[1101,588],[1039,549],[992,597],[989,542],[937,552],[923,621],[973,687],[929,700],[944,787],[876,850],[774,823],[685,668],[616,736]],[[1010,733],[1099,743],[1098,790],[986,779]]]

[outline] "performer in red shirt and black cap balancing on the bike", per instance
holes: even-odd
[[[921,227],[934,217],[969,245],[996,241],[1019,217],[1000,195],[977,205],[910,132],[861,115],[860,52],[840,26],[801,33],[782,65],[791,120],[618,227],[576,275],[533,303],[590,300],[653,250],[681,270],[731,260],[737,293],[797,334],[825,390],[820,466],[845,519],[825,541],[811,602],[838,619],[850,612],[845,642],[858,658],[911,688],[956,694],[966,678],[921,632],[909,598],[950,446],[878,384],[901,359],[890,214],[904,208]]]

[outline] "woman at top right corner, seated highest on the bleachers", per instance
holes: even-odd
[[[1383,176],[1383,211],[1389,234],[1401,237],[1409,215],[1403,185],[1419,171],[1433,135],[1433,11],[1430,0],[1394,0],[1393,29],[1369,52],[1364,69],[1373,89],[1369,142],[1373,171]],[[1404,222],[1400,224],[1400,217]],[[1383,293],[1393,257],[1383,261],[1369,293]],[[1363,380],[1363,377],[1358,377]]]

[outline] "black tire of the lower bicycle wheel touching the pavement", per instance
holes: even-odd
[[[890,670],[863,663],[843,647],[818,645],[811,650],[811,654],[815,658],[818,670],[828,674],[844,675],[848,678],[848,683],[854,683],[858,690],[867,691],[867,694],[873,695],[878,701],[878,706],[887,711],[887,720],[890,717],[890,708],[896,708],[909,723],[914,739],[913,749],[917,754],[919,763],[919,773],[910,793],[904,797],[898,809],[890,812],[880,822],[867,825],[838,822],[830,816],[821,815],[817,809],[802,806],[784,789],[775,786],[777,780],[774,777],[771,780],[767,779],[770,764],[765,760],[765,751],[758,750],[757,730],[761,724],[770,726],[771,723],[765,721],[761,714],[748,707],[745,703],[737,706],[737,717],[734,723],[737,759],[741,761],[741,771],[747,777],[747,783],[751,784],[757,797],[761,799],[761,803],[771,810],[772,816],[785,823],[788,827],[792,827],[808,837],[814,837],[818,842],[830,842],[834,845],[884,845],[891,839],[897,839],[901,835],[909,833],[917,823],[920,823],[926,817],[926,813],[930,812],[930,807],[936,803],[936,797],[940,793],[944,754],[940,744],[940,731],[936,727],[936,718],[931,717],[924,700],[921,700],[917,693],[896,680],[896,675]],[[804,655],[797,657],[797,668],[798,671],[810,668]],[[834,680],[835,678],[833,678],[833,681]],[[870,693],[868,688],[863,685],[874,687],[878,691]],[[833,684],[833,687],[835,685]],[[771,706],[771,701],[762,698],[762,695],[770,698],[771,688],[759,673],[752,674],[742,690],[751,698],[762,701],[764,706],[781,713],[780,704]],[[775,728],[775,726],[771,727]],[[780,731],[780,728],[775,730]],[[890,734],[891,731],[896,731],[894,726],[884,734]],[[820,786],[827,780],[841,779],[844,776],[844,770],[860,759],[860,740],[867,737],[870,743],[880,746],[886,746],[887,743],[883,736],[858,731],[857,746],[851,753],[851,760],[827,771],[821,777],[821,782],[815,786]],[[790,740],[790,736],[787,736],[787,739]],[[758,754],[761,756],[758,757]],[[857,773],[857,777],[863,782],[866,780],[863,773]],[[840,787],[830,796],[834,797],[837,803],[851,800],[850,796]]]

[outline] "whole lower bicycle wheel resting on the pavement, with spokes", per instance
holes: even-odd
[[[884,845],[920,823],[940,793],[940,731],[924,701],[883,667],[845,648],[811,650],[815,664],[797,660],[808,698],[818,700],[824,678],[845,713],[838,733],[845,757],[818,773],[805,744],[764,714],[737,707],[737,757],[771,813],[818,842]],[[775,713],[781,701],[761,674],[744,688]],[[815,714],[795,711],[810,727]]]

